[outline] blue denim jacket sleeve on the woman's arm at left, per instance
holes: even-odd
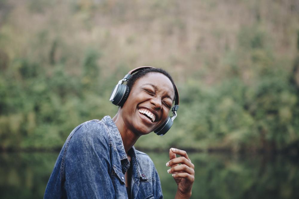
[[[89,121],[74,133],[66,151],[67,198],[115,198],[110,172],[106,129],[96,121]]]

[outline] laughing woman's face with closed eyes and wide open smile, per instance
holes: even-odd
[[[154,131],[166,121],[174,95],[170,79],[162,73],[139,78],[121,108],[126,127],[140,135]]]

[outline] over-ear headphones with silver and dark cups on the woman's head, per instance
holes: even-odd
[[[114,87],[111,95],[110,95],[110,99],[109,101],[112,102],[112,104],[116,105],[116,106],[122,106],[126,99],[129,96],[130,93],[130,89],[127,85],[123,84],[123,82],[129,81],[130,77],[132,76],[133,73],[138,72],[140,70],[144,70],[147,68],[155,68],[155,67],[150,67],[150,66],[142,66],[142,67],[138,67],[135,68],[133,70],[131,70],[130,72],[128,72],[128,74],[126,74],[124,76],[123,79],[121,79],[118,84],[116,84],[116,86]],[[167,116],[166,121],[157,129],[154,130],[155,134],[163,136],[165,133],[167,133],[167,131],[170,129],[170,127],[173,124],[173,120],[176,118],[177,114],[176,111],[179,109],[179,93],[178,90],[176,88],[176,85],[174,85],[175,87],[175,94],[176,94],[176,100],[174,103],[174,106],[172,107],[172,113],[173,116],[169,117]]]

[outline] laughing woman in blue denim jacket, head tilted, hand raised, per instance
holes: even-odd
[[[129,89],[117,102],[120,107],[112,119],[105,116],[101,121],[87,121],[68,136],[44,198],[163,198],[152,160],[133,145],[141,135],[163,125],[171,127],[172,122],[165,123],[179,96],[164,70],[142,67],[133,72],[136,73],[125,76],[129,81],[123,80],[128,81]],[[119,100],[117,92],[127,88],[123,81],[112,92],[110,101],[114,104]],[[165,129],[162,132],[165,134]],[[176,158],[176,154],[181,157]],[[187,153],[179,149],[171,148],[169,157],[167,172],[178,185],[176,198],[190,198],[194,165]]]

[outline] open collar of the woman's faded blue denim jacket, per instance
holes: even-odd
[[[115,142],[115,146],[113,147],[114,150],[117,151],[119,154],[121,167],[122,167],[121,170],[123,174],[125,174],[125,172],[130,167],[130,162],[128,161],[128,157],[126,155],[126,151],[123,146],[123,141],[121,139],[120,132],[118,131],[117,126],[115,125],[115,123],[113,122],[113,120],[109,115],[105,116],[102,119],[102,121],[108,127],[108,132],[111,133],[110,134],[111,138]],[[144,173],[144,169],[146,168],[142,169],[142,165],[140,165],[139,163],[135,147],[132,146],[132,148],[128,151],[128,153],[131,156],[132,169],[135,170],[135,172],[132,172],[134,180],[139,182],[139,179],[137,177],[142,178],[143,180],[149,180],[150,177]]]

